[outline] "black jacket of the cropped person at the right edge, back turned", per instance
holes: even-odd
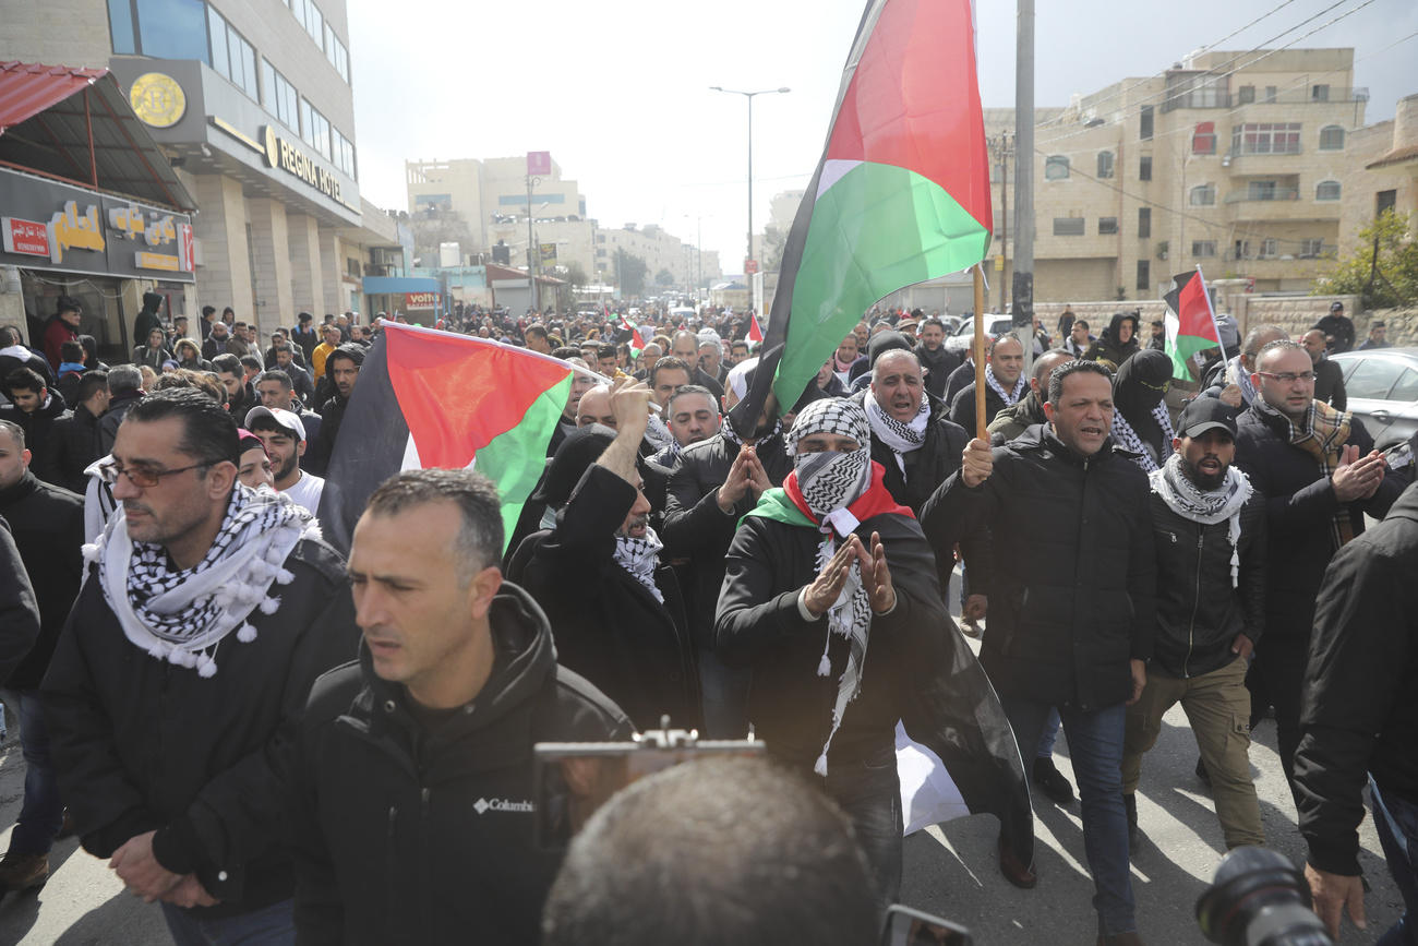
[[[1418,486],[1334,556],[1319,590],[1295,750],[1310,864],[1358,874],[1364,783],[1418,804]]]

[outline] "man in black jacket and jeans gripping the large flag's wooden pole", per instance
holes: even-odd
[[[973,576],[973,590],[990,599],[981,661],[1020,746],[1037,746],[1058,708],[1082,794],[1100,942],[1137,943],[1119,766],[1126,705],[1147,681],[1156,621],[1147,477],[1113,445],[1106,369],[1055,369],[1045,413],[1048,425],[993,454],[971,440],[922,523],[933,542],[984,522],[1031,536],[997,543],[990,567]],[[1001,869],[1017,885],[1035,882],[1029,862],[1001,859]]]

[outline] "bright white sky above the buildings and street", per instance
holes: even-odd
[[[550,150],[603,227],[658,223],[740,271],[746,108],[754,228],[821,155],[864,0],[347,0],[360,190],[407,207],[406,159]],[[1222,48],[1354,47],[1367,121],[1418,92],[1414,0],[1037,0],[1035,104],[1066,105],[1255,26]],[[1276,10],[1276,7],[1280,7]],[[1014,104],[1015,4],[977,4],[980,96]],[[1273,11],[1273,13],[1272,13]],[[1271,13],[1271,16],[1265,16]],[[1344,16],[1349,13],[1350,16]],[[1314,17],[1314,14],[1320,14]],[[1310,23],[1299,26],[1303,20]],[[1293,30],[1285,33],[1288,30]],[[1279,40],[1276,34],[1285,33]],[[1390,47],[1397,40],[1397,45]]]

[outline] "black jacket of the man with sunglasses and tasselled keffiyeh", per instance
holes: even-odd
[[[282,779],[315,679],[357,647],[340,556],[302,539],[281,608],[254,610],[250,644],[231,634],[217,674],[159,662],[129,642],[89,566],[41,688],[60,790],[84,850],[101,858],[157,830],[153,855],[194,872],[231,916],[288,899]]]

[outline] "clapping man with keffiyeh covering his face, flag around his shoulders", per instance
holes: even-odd
[[[895,726],[913,641],[949,618],[930,546],[886,491],[871,443],[858,403],[818,400],[798,414],[793,472],[729,547],[715,647],[752,667],[749,718],[769,752],[815,773],[852,820],[885,908],[900,886]]]

